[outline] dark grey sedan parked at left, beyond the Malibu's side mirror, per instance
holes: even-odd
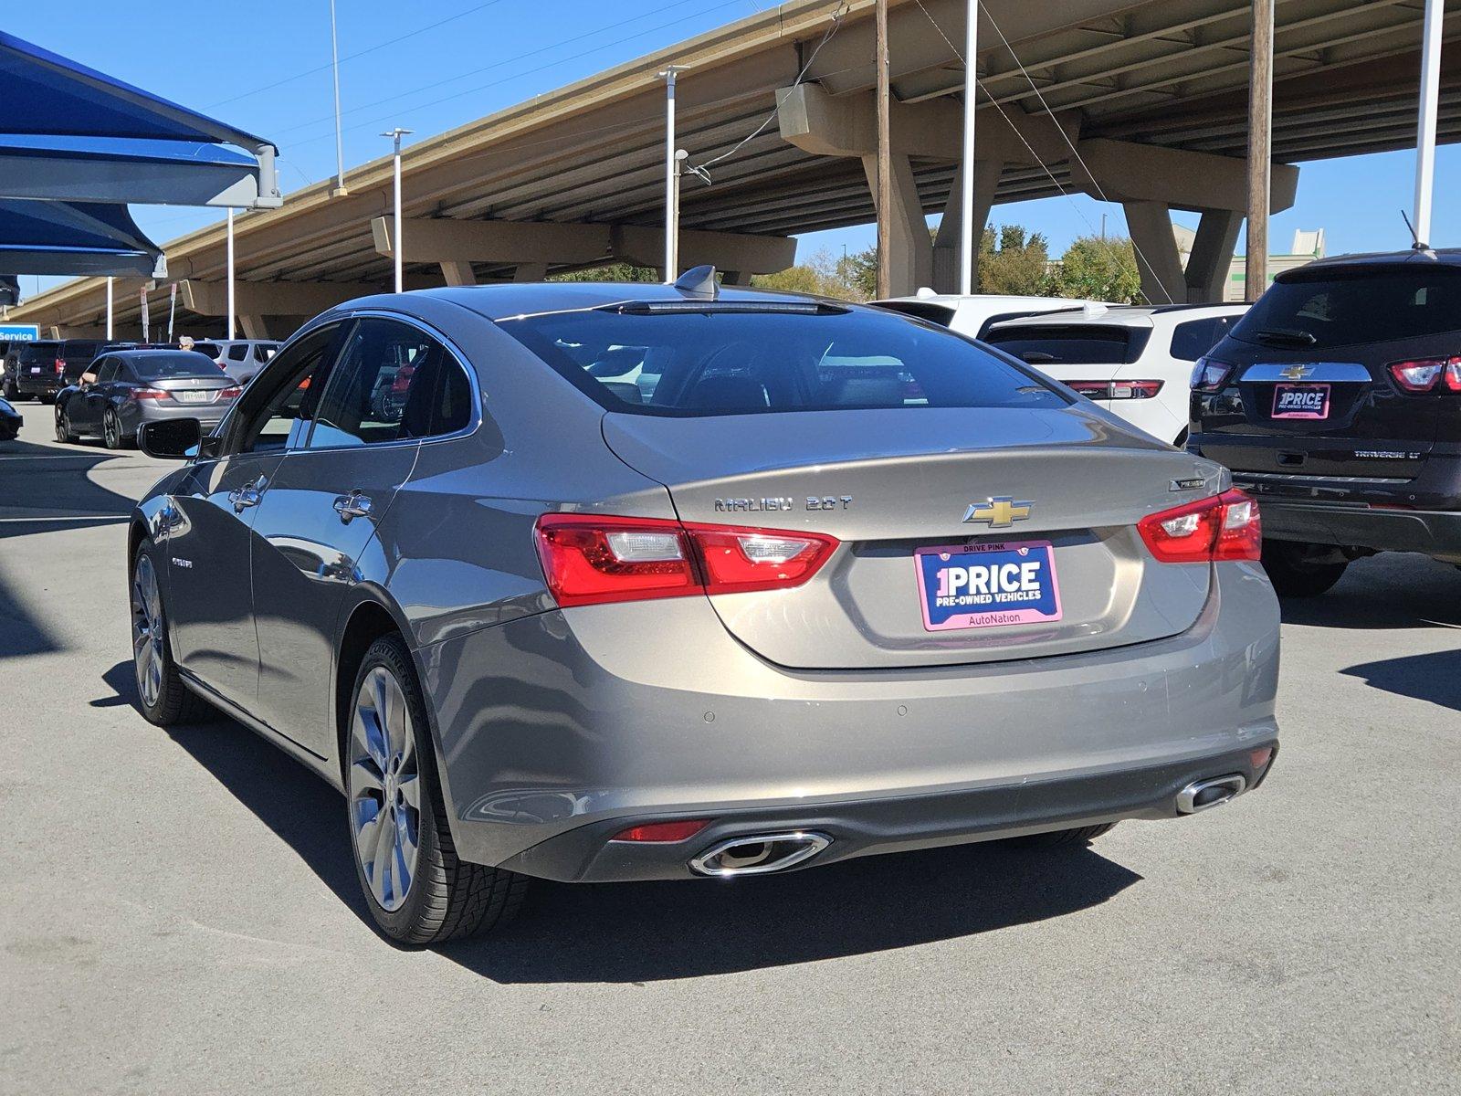
[[[212,430],[241,389],[193,351],[114,351],[56,402],[56,438],[99,435],[107,449],[133,444],[143,422],[187,418]]]

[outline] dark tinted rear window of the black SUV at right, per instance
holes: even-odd
[[[1461,330],[1461,270],[1335,269],[1274,282],[1233,329],[1261,346],[1325,348]]]

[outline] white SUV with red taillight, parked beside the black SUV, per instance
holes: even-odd
[[[1246,304],[1094,304],[996,323],[985,340],[1180,447],[1188,435],[1192,364],[1246,310]]]

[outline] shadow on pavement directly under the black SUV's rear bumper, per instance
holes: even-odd
[[[1461,628],[1461,570],[1413,554],[1350,564],[1318,598],[1280,601],[1284,624],[1321,628]]]

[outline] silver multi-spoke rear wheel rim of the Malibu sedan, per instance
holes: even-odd
[[[361,682],[351,719],[351,829],[375,902],[400,909],[421,849],[421,773],[406,694],[375,666]]]

